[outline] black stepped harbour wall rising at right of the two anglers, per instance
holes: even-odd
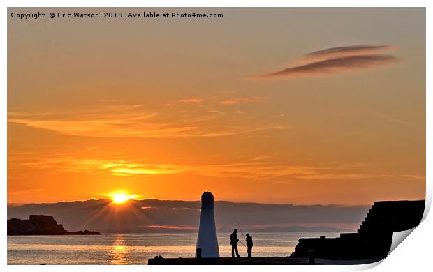
[[[301,238],[291,257],[367,259],[386,257],[392,233],[416,227],[423,218],[425,200],[374,202],[358,232],[337,238]]]

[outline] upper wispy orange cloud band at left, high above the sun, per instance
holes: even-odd
[[[216,120],[219,121],[210,122]],[[233,119],[224,112],[207,107],[152,110],[143,105],[120,105],[50,114],[8,112],[8,122],[84,137],[221,137],[287,128],[265,121],[254,124],[239,121],[233,123]]]

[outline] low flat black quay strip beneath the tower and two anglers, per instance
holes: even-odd
[[[320,259],[316,258],[314,264],[371,264],[373,262],[378,262],[383,258],[372,258],[372,259]],[[223,258],[158,258],[158,259],[149,259],[147,264],[149,265],[206,265],[206,264],[292,264],[292,265],[303,265],[309,264],[308,258],[294,258],[294,257],[252,257],[249,258],[231,258],[231,257],[223,257]],[[311,265],[311,264],[310,264]]]

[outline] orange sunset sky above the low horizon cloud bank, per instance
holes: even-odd
[[[8,16],[8,203],[425,198],[425,9],[209,10]]]

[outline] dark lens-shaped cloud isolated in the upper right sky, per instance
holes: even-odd
[[[302,75],[324,75],[351,70],[376,68],[397,60],[389,54],[376,54],[389,50],[388,45],[354,45],[334,47],[306,54],[298,66],[260,75],[262,79],[296,77]]]

